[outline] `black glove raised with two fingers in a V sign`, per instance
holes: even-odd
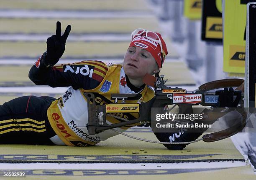
[[[61,35],[61,23],[57,21],[56,23],[56,35],[48,37],[47,43],[47,53],[46,57],[43,60],[43,64],[46,67],[54,66],[59,58],[63,55],[65,51],[65,45],[69,32],[71,30],[71,25],[68,25],[64,34]]]

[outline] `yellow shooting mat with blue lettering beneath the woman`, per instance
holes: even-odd
[[[157,141],[150,128],[131,128],[127,133],[142,139]],[[123,135],[114,136],[93,147],[0,145],[0,163],[179,163],[213,161],[243,161],[243,156],[229,138],[214,143],[202,141],[192,143],[182,151],[170,151],[161,144],[138,141]]]

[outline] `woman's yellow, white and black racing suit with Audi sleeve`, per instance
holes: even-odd
[[[84,92],[95,95],[96,105],[113,103],[112,93],[140,93],[140,100],[128,103],[143,103],[154,97],[154,91],[146,86],[135,87],[125,75],[123,67],[100,61],[82,61],[73,64],[45,67],[41,58],[31,67],[29,78],[36,85],[68,87],[55,99],[53,97],[19,97],[0,106],[0,143],[47,144],[90,146],[117,135],[105,130],[89,135],[86,126],[87,101]],[[118,113],[119,117],[131,120],[132,113]],[[108,117],[108,123],[120,122]],[[117,128],[123,132],[127,128]],[[185,142],[198,138],[202,133],[154,133],[162,142]],[[186,145],[165,145],[170,150],[181,150]]]

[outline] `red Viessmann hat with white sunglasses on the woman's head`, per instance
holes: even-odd
[[[162,67],[162,63],[164,63],[164,59],[168,54],[168,51],[161,34],[159,34],[158,32],[152,32],[152,31],[143,30],[143,29],[137,29],[137,30],[141,30],[141,34],[139,34],[140,31],[138,31],[138,34],[136,34],[135,36],[133,36],[133,33],[132,33],[132,41],[129,47],[138,46],[146,49],[154,57],[157,65],[159,67]],[[135,31],[136,30],[134,30],[133,32]],[[162,45],[162,51],[163,51],[162,53],[161,53],[161,46],[160,46],[159,39]]]

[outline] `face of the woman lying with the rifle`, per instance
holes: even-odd
[[[158,66],[150,52],[141,47],[132,46],[125,54],[123,69],[128,77],[143,78],[147,73],[153,74]]]

